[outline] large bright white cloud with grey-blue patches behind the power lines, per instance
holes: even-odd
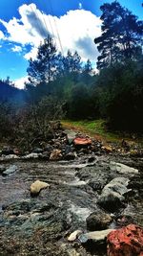
[[[22,46],[31,45],[31,52],[25,54],[24,58],[35,58],[38,45],[50,34],[59,51],[60,36],[64,54],[70,49],[72,52],[77,51],[83,60],[91,58],[96,61],[98,53],[93,39],[101,35],[101,20],[92,12],[81,9],[81,3],[79,8],[63,16],[53,17],[40,12],[35,4],[25,4],[19,8],[19,20],[13,17],[9,22],[0,21],[7,29],[8,40]]]

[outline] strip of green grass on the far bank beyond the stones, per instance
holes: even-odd
[[[65,128],[73,128],[86,132],[91,136],[101,137],[101,139],[106,141],[115,142],[121,139],[119,134],[111,132],[106,128],[106,122],[103,119],[95,121],[63,120],[62,125]]]

